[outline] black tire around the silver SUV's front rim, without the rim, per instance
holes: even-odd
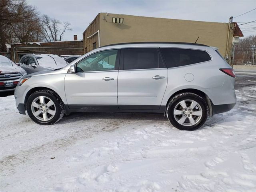
[[[50,98],[50,100],[52,100],[52,102],[54,103],[55,114],[52,115],[50,120],[47,120],[47,121],[39,120],[38,118],[36,118],[33,115],[31,105],[32,105],[32,102],[34,101],[34,99],[36,99],[39,96],[45,96],[47,98]],[[62,100],[60,99],[58,94],[56,94],[56,92],[51,91],[51,90],[40,90],[40,91],[36,91],[33,94],[31,94],[28,97],[28,100],[26,102],[26,110],[27,110],[28,116],[34,122],[36,122],[37,124],[40,124],[40,125],[54,124],[54,123],[58,122],[65,114],[64,104],[63,104]]]

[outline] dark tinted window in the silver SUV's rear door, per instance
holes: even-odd
[[[124,70],[164,68],[156,48],[127,48],[124,52]]]

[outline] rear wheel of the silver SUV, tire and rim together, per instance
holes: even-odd
[[[193,93],[182,93],[168,103],[166,110],[169,122],[180,130],[196,130],[208,117],[205,100]]]

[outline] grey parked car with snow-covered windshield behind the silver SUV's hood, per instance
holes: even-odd
[[[30,74],[62,68],[66,66],[66,61],[53,54],[27,54],[20,59],[19,65],[27,74]]]

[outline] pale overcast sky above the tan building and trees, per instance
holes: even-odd
[[[150,16],[172,19],[228,22],[256,8],[256,0],[27,0],[41,14],[71,23],[73,31],[63,40],[82,39],[82,33],[99,12]],[[256,20],[256,10],[234,18],[234,22]],[[239,23],[242,24],[242,23]],[[256,22],[244,24],[244,36],[256,34]],[[247,32],[246,32],[247,31]],[[249,31],[249,32],[248,32]]]

